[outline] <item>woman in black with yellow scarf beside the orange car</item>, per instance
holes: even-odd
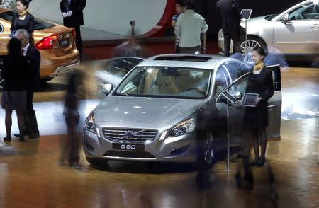
[[[13,16],[11,23],[11,34],[15,33],[16,30],[25,29],[32,37],[34,30],[34,16],[29,13],[29,1],[18,0],[16,1],[16,10],[18,13]]]

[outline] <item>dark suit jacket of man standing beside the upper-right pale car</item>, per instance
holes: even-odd
[[[216,7],[223,30],[238,30],[240,28],[240,7],[237,0],[220,0]]]

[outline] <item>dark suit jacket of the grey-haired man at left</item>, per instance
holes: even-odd
[[[40,87],[40,52],[30,45],[26,52],[26,59],[28,61],[28,88],[35,91]]]

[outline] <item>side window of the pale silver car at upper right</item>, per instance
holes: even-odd
[[[303,4],[289,12],[289,20],[319,20],[319,3]]]

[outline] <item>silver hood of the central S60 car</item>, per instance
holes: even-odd
[[[206,100],[108,96],[94,110],[95,122],[142,123],[164,127],[203,108]]]

